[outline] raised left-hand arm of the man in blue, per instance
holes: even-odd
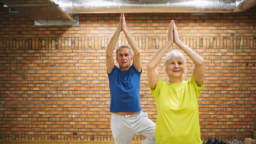
[[[107,65],[107,70],[108,70],[108,74],[110,74],[115,66],[115,60],[113,58],[113,51],[115,50],[115,46],[119,37],[119,34],[122,31],[122,14],[120,17],[120,22],[118,24],[118,28],[116,29],[115,34],[113,35],[113,37],[111,38],[109,44],[108,44],[108,48],[106,51],[106,65]]]

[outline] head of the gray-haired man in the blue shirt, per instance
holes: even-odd
[[[127,47],[119,49],[117,52],[116,61],[118,62],[120,68],[130,67],[132,61],[130,50]]]

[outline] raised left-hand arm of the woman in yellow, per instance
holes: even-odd
[[[152,57],[152,59],[148,62],[147,70],[148,70],[148,83],[152,90],[155,90],[157,82],[159,80],[159,73],[157,71],[157,64],[163,58],[164,53],[168,51],[173,43],[173,20],[170,23],[168,29],[168,41],[161,49],[159,49],[156,54]]]

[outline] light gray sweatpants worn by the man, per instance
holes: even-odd
[[[111,131],[115,144],[131,144],[137,133],[147,137],[141,144],[155,144],[155,129],[156,124],[148,119],[148,113],[138,111],[127,116],[112,113]]]

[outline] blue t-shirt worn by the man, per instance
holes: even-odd
[[[121,71],[113,68],[109,79],[110,112],[141,111],[140,106],[140,75],[134,65],[129,70]]]

